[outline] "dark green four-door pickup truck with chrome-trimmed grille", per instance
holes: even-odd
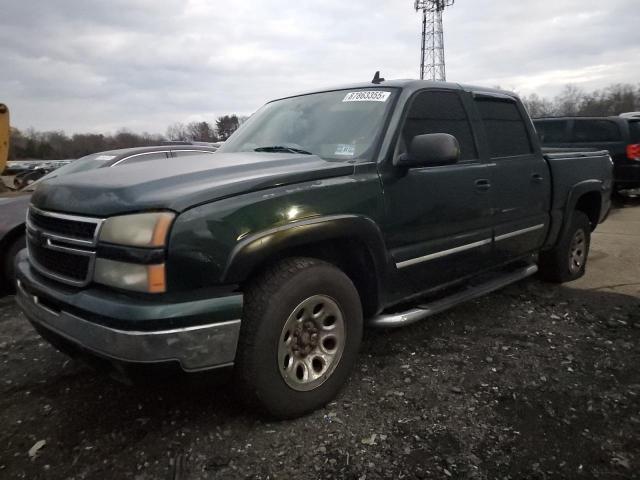
[[[375,80],[272,101],[207,158],[44,182],[17,301],[69,354],[230,371],[295,417],[335,397],[365,327],[580,277],[611,189],[607,152],[544,154],[511,93]]]

